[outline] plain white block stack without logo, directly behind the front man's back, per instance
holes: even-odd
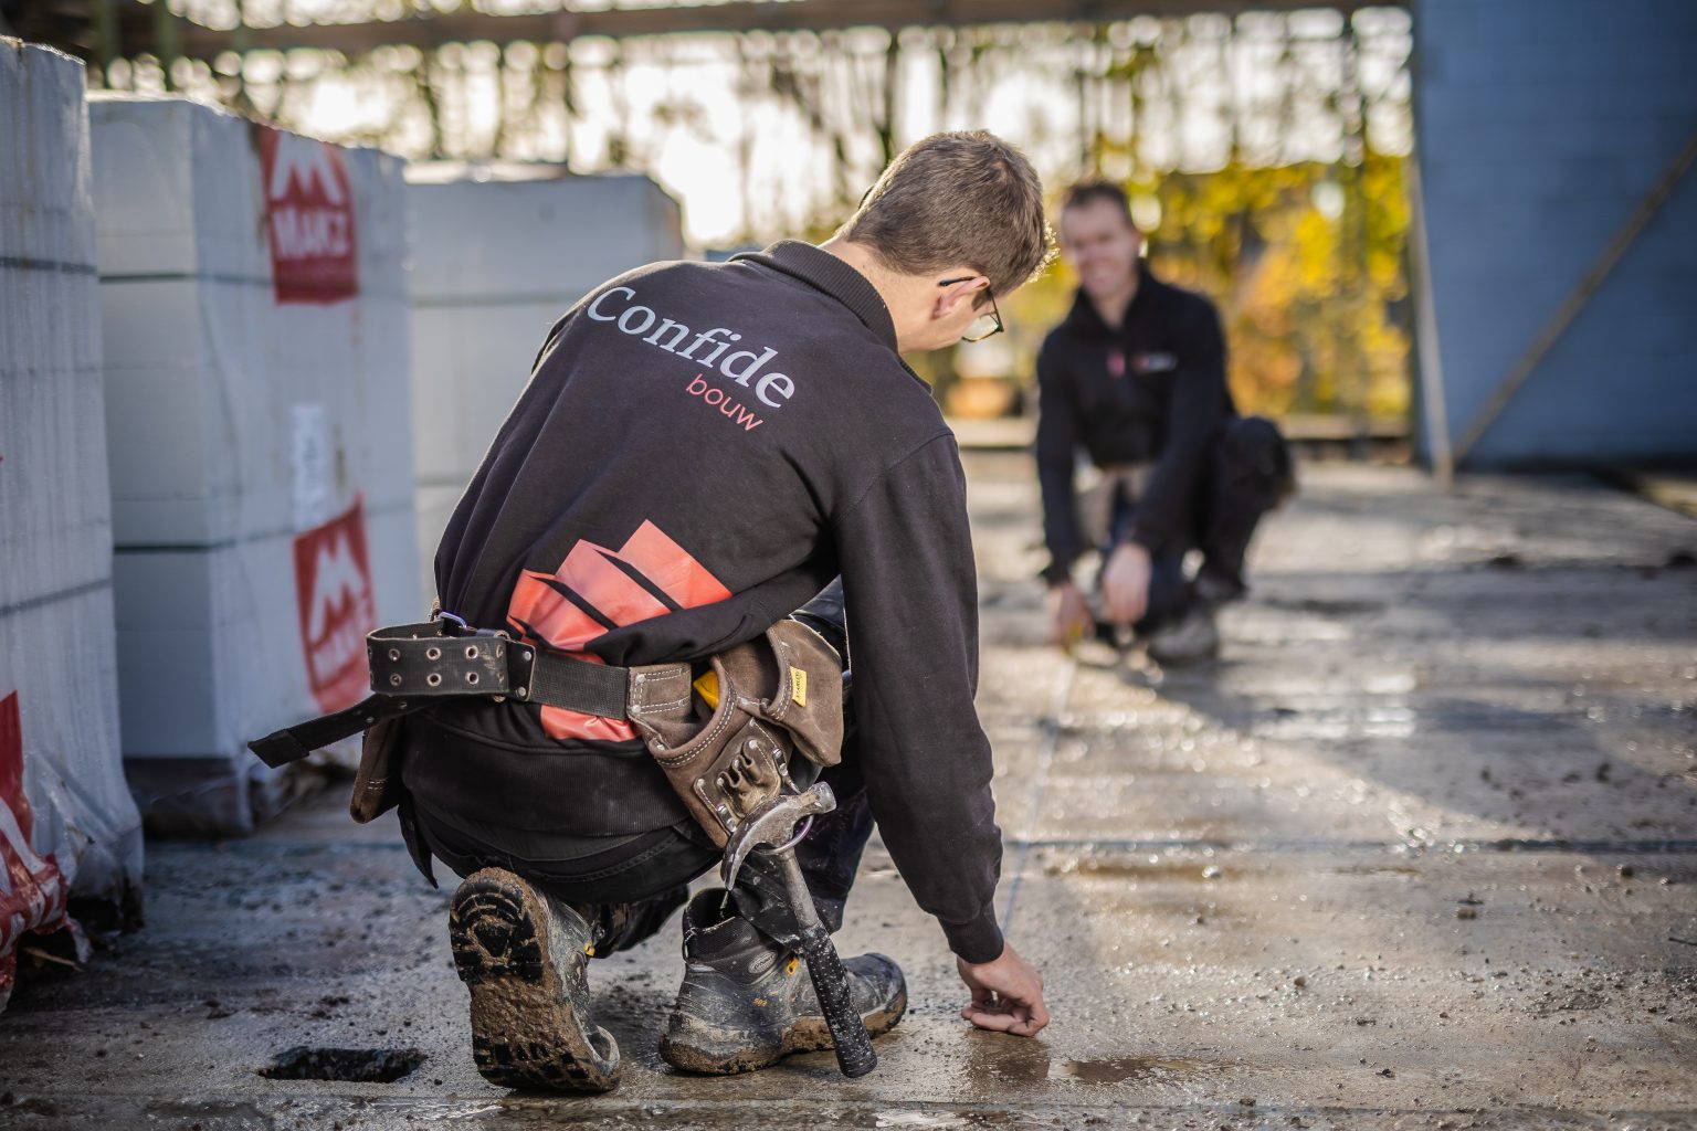
[[[614,275],[682,258],[684,239],[677,202],[635,175],[416,181],[407,212],[419,561],[429,595],[436,543],[548,327]]]

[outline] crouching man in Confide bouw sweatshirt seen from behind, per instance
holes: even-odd
[[[618,1082],[585,956],[655,933],[748,819],[740,790],[774,773],[789,795],[815,775],[835,794],[794,850],[828,929],[876,822],[957,956],[962,1016],[1022,1036],[1047,1024],[1042,980],[993,909],[1001,834],[972,705],[961,458],[901,361],[994,332],[994,300],[1047,254],[1025,158],[989,134],[938,134],[898,156],[825,244],[650,265],[553,327],[438,549],[445,622],[468,627],[443,629],[429,661],[535,649],[568,677],[395,719],[414,858],[467,877],[450,943],[485,1078]],[[400,658],[416,643],[377,641],[378,688],[412,678]],[[830,682],[850,646],[843,700]],[[385,653],[402,665],[392,675]],[[828,673],[809,670],[820,656]],[[443,670],[477,675],[429,668],[429,690]],[[606,671],[614,682],[597,683]],[[597,687],[613,705],[584,690]],[[774,765],[779,739],[806,760]],[[699,749],[720,751],[713,773],[669,778]],[[731,890],[684,911],[684,982],[660,1041],[677,1068],[745,1072],[832,1045],[772,858],[750,856]],[[843,967],[867,1031],[893,1028],[906,1009],[896,963]]]

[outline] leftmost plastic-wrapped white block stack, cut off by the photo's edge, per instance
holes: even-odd
[[[32,824],[70,895],[122,919],[143,844],[119,755],[97,290],[83,64],[0,39],[0,872]],[[0,961],[20,890],[0,885]]]

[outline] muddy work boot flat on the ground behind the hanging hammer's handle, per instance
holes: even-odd
[[[684,911],[684,985],[660,1038],[660,1056],[682,1072],[753,1072],[791,1053],[832,1048],[832,1033],[801,955],[725,907],[725,890],[697,894]],[[848,990],[871,1036],[908,1009],[901,967],[882,955],[845,958]]]

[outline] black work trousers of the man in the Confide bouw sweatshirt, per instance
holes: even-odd
[[[847,663],[842,582],[833,583],[796,617],[825,636]],[[837,809],[816,816],[796,860],[826,929],[842,926],[843,904],[860,868],[860,855],[872,836],[872,809],[854,756],[855,733],[848,727],[843,760],[823,772],[794,758],[791,778],[801,788],[823,780],[837,797]],[[541,844],[526,843],[521,833],[497,827],[467,827],[467,822],[409,799],[404,824],[417,850],[445,863],[455,875],[479,868],[506,868],[555,899],[570,904],[596,931],[596,955],[606,956],[641,943],[687,899],[687,885],[718,866],[721,853],[694,821],[638,833],[635,836],[550,836]],[[535,846],[533,846],[535,844]],[[540,851],[541,850],[541,851]],[[759,853],[738,877],[738,889],[759,907],[755,926],[774,938],[789,934],[782,909],[781,882]],[[786,939],[787,941],[787,939]]]

